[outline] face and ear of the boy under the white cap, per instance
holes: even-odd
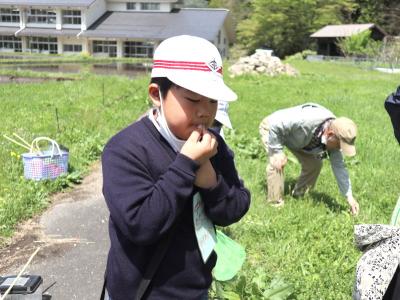
[[[152,93],[151,85],[149,92],[153,103],[156,106],[160,106],[161,103],[154,99],[155,91]],[[157,98],[159,99],[158,95]],[[177,138],[182,140],[187,140],[199,125],[209,128],[217,113],[218,103],[216,100],[206,98],[176,85],[169,89],[163,100],[163,109],[168,127]]]

